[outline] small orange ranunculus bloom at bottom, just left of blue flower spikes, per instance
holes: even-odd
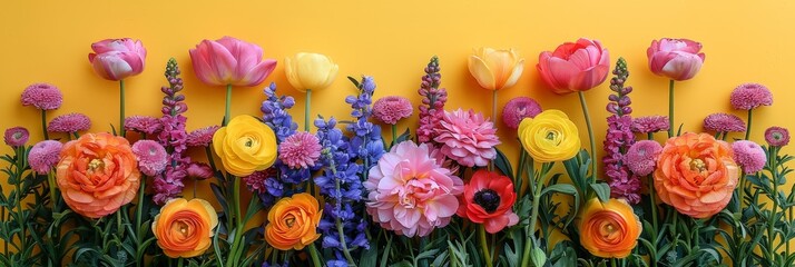
[[[322,215],[312,195],[302,192],[282,198],[267,212],[265,240],[281,250],[303,249],[321,237],[317,225]]]

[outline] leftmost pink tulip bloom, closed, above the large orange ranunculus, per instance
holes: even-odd
[[[105,39],[91,43],[91,50],[94,52],[88,55],[88,61],[94,71],[105,79],[117,81],[144,71],[146,48],[140,40]]]

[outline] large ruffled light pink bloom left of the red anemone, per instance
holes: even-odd
[[[444,227],[459,207],[463,181],[430,157],[425,144],[404,141],[370,169],[367,214],[387,230],[408,237],[428,236]]]

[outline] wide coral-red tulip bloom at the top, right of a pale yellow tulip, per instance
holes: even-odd
[[[610,53],[597,40],[580,38],[539,55],[536,66],[552,91],[565,95],[599,86],[610,71]]]

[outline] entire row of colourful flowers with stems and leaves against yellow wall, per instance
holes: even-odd
[[[670,79],[670,111],[639,118],[631,117],[627,62],[619,59],[611,72],[609,52],[599,41],[579,39],[540,53],[537,69],[547,86],[559,95],[579,95],[590,149],[582,149],[585,141],[568,115],[520,97],[502,108],[502,123],[517,130],[522,145],[519,159],[508,160],[498,149],[493,121],[497,91],[514,86],[523,72],[524,59],[511,49],[482,48],[469,58],[474,79],[493,91],[491,118],[471,109],[445,110],[448,90],[440,88],[434,57],[418,90],[420,123],[414,135],[398,135],[398,121],[413,116],[414,107],[396,96],[373,99],[372,77],[350,78],[356,88],[345,98],[351,120],[310,117],[312,91],[331,86],[338,70],[318,53],[285,60],[289,83],[306,98],[303,130],[289,113],[294,98],[277,95],[275,83],[264,89],[261,118],[232,116],[233,87],[261,85],[276,60],[263,59],[258,46],[235,38],[205,40],[190,50],[194,71],[204,83],[226,87],[226,109],[220,126],[187,131],[188,107],[176,60],[166,66],[163,116],[126,117],[124,79],[144,70],[146,49],[132,39],[104,40],[92,44],[89,61],[100,77],[119,81],[120,121],[111,134],[85,134],[91,122],[81,113],[48,122],[47,111],[62,102],[56,86],[36,83],[22,92],[22,105],[41,112],[46,140],[27,147],[27,129],[6,131],[6,144],[14,149],[14,156],[4,157],[7,174],[16,190],[0,202],[3,218],[13,218],[0,228],[0,237],[14,244],[17,253],[6,250],[0,259],[60,265],[70,256],[78,264],[138,266],[145,260],[183,265],[186,259],[217,266],[566,266],[579,259],[591,266],[620,259],[622,265],[674,266],[722,264],[723,253],[736,266],[792,263],[787,233],[795,230],[775,225],[785,210],[792,212],[787,204],[793,201],[778,196],[781,178],[788,172],[788,156],[778,151],[788,144],[788,131],[767,129],[766,147],[747,140],[752,112],[773,103],[771,91],[747,83],[732,92],[732,106],[747,110],[747,125],[737,116],[714,113],[704,120],[713,135],[675,132],[674,85],[698,73],[705,59],[700,49],[686,39],[651,42],[649,68]],[[610,116],[599,168],[583,95],[610,72]],[[391,138],[382,136],[382,126],[391,128]],[[659,131],[668,134],[664,145],[654,140]],[[743,131],[744,139],[725,141],[729,132]],[[63,132],[69,141],[50,139],[50,132]],[[192,148],[204,150],[206,158],[189,157]],[[551,174],[554,164],[563,165],[571,184]],[[185,190],[187,178],[197,180],[193,198]],[[215,180],[198,182],[209,178]],[[254,196],[248,205],[241,194],[244,184]],[[202,185],[209,186],[220,210],[196,198]],[[26,197],[39,191],[31,206],[38,208],[31,210],[49,212],[23,210]],[[572,201],[561,202],[553,194]],[[757,206],[760,194],[774,204],[767,212]],[[559,210],[561,205],[569,210]],[[80,216],[69,216],[69,210]],[[267,211],[264,226],[247,227],[261,210]],[[710,219],[724,211],[735,215]],[[77,246],[69,246],[71,234],[60,230],[70,220],[94,225],[75,229]],[[739,222],[749,220],[754,224]],[[732,230],[716,234],[722,224]],[[48,234],[36,234],[41,229]],[[553,231],[568,239],[552,244]],[[763,237],[762,253],[743,245]],[[735,247],[719,250],[719,240]],[[783,244],[784,257],[776,256]],[[32,257],[36,246],[48,254]],[[306,255],[294,253],[302,250]]]

